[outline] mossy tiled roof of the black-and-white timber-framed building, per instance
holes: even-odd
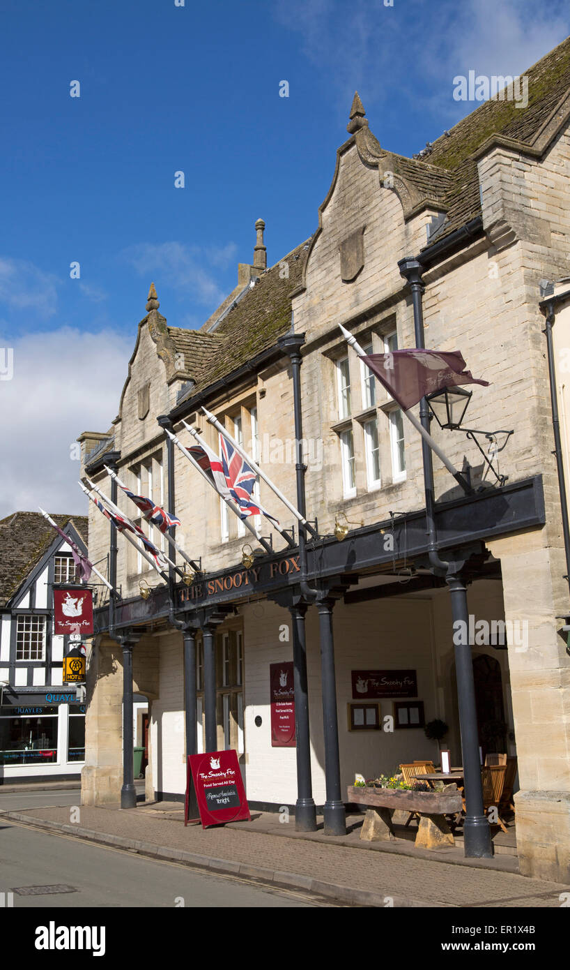
[[[87,516],[51,515],[51,518],[60,529],[72,522],[87,544]],[[5,606],[14,596],[56,537],[57,533],[41,512],[13,512],[0,520],[0,606]]]

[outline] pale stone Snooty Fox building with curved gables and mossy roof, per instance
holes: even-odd
[[[350,137],[337,150],[309,240],[267,268],[258,220],[252,264],[240,264],[236,289],[201,330],[169,326],[151,287],[117,417],[109,432],[79,437],[81,470],[110,493],[103,466],[111,464],[134,491],[164,507],[174,501],[181,521],[176,540],[193,559],[202,557],[202,573],[192,585],[174,575],[165,583],[122,536],[112,529],[110,535],[90,505],[89,554],[99,560],[110,541],[117,544],[121,599],[111,613],[99,612],[93,642],[84,802],[118,798],[125,644],[132,648],[134,690],[149,700],[147,794],[183,794],[188,745],[206,750],[206,630],[216,653],[218,748],[238,750],[250,803],[294,805],[299,751],[272,744],[269,666],[297,656],[300,604],[318,806],[330,794],[325,762],[332,730],[330,692],[323,703],[323,613],[325,625],[333,618],[341,791],[355,772],[367,777],[435,758],[437,746],[422,729],[434,718],[449,725],[446,743],[459,761],[452,612],[445,581],[429,565],[422,440],[347,352],[338,327],[368,352],[413,347],[421,302],[425,345],[459,348],[468,369],[490,381],[475,388],[467,426],[513,432],[506,443],[497,436],[504,447],[493,467],[506,476],[497,478],[472,438],[431,422],[431,434],[457,468],[469,471],[474,490],[463,495],[433,459],[436,550],[447,560],[459,550],[473,622],[488,621],[492,629],[505,621],[509,631],[506,649],[496,649],[505,644],[493,644],[480,624],[470,648],[479,743],[518,757],[522,871],[568,878],[570,660],[561,618],[570,603],[539,280],[568,275],[570,40],[526,77],[526,108],[508,97],[491,100],[413,159],[380,145],[357,95]],[[307,536],[305,575],[298,529],[286,544],[265,519],[261,531],[274,552],[262,550],[254,566],[241,565],[253,537],[165,434],[165,427],[174,430],[189,447],[185,420],[217,450],[205,405],[296,503],[290,353],[296,338],[306,515],[318,532],[314,540]],[[297,527],[266,482],[258,487],[282,526]],[[124,495],[117,501],[135,518]],[[346,520],[350,532],[338,541],[335,523]],[[164,542],[156,529],[151,537]],[[320,593],[318,609],[310,600],[305,609],[302,583]],[[143,599],[145,585],[152,593]],[[189,739],[183,642],[190,628],[199,727]],[[359,699],[354,675],[374,670],[414,671],[417,693],[405,715],[389,695],[377,701],[379,728],[352,723],[350,729],[351,705]],[[395,718],[393,730],[382,729],[386,716]]]

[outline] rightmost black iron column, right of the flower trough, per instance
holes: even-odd
[[[489,858],[492,856],[491,826],[483,807],[473,658],[467,633],[469,630],[467,588],[460,573],[446,576],[446,582],[450,589],[454,621],[461,759],[465,782],[464,855],[470,858]],[[463,636],[459,635],[461,629],[465,631]]]

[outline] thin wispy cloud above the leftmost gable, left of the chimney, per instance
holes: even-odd
[[[174,289],[191,292],[198,303],[209,306],[226,296],[209,268],[226,268],[236,250],[234,242],[204,249],[181,242],[141,242],[124,249],[121,256],[137,273],[154,279],[157,288],[162,276]]]

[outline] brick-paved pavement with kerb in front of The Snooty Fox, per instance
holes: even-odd
[[[462,859],[462,850],[418,851],[397,843],[364,843],[363,816],[349,817],[346,837],[295,831],[295,822],[253,813],[251,822],[184,826],[179,803],[134,809],[35,807],[0,813],[7,819],[100,845],[228,873],[272,887],[301,889],[350,906],[557,908],[570,886],[528,879],[514,857]],[[447,855],[443,855],[447,854]],[[473,862],[478,864],[473,864]]]

